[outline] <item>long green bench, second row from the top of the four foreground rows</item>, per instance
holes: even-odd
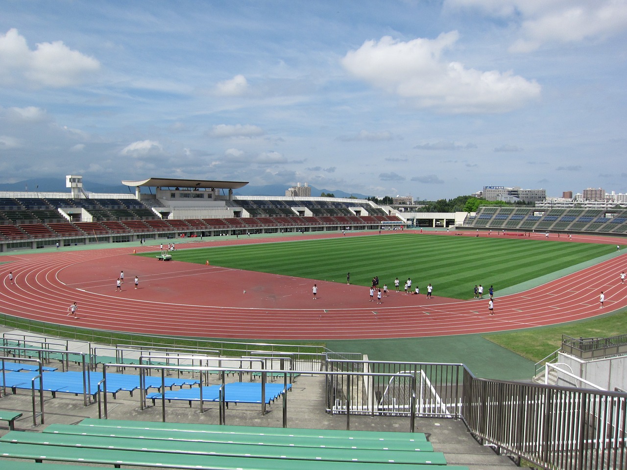
[[[171,429],[127,429],[124,427],[75,426],[73,424],[51,424],[43,432],[85,436],[132,437],[135,439],[164,439],[167,441],[234,442],[236,444],[329,447],[332,449],[372,449],[390,451],[432,452],[428,441],[376,441],[374,439],[334,439],[299,436],[272,436],[264,434],[232,434],[230,432],[172,431]]]

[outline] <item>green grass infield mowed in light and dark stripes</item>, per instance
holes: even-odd
[[[495,291],[613,251],[612,245],[531,239],[386,234],[381,236],[221,246],[177,251],[177,261],[283,274],[394,290],[394,278],[433,295],[472,298],[482,284]],[[154,253],[145,254],[154,256]]]

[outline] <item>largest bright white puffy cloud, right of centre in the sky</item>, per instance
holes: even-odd
[[[398,41],[384,36],[366,41],[342,58],[357,78],[406,98],[419,108],[455,113],[495,113],[522,107],[540,95],[540,85],[511,71],[479,71],[441,58],[453,47],[457,31],[436,39]]]

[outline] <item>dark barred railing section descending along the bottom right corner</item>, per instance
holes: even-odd
[[[545,469],[627,468],[626,409],[624,393],[463,375],[461,419],[470,432]]]

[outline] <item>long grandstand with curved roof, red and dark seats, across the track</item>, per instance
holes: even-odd
[[[247,182],[149,178],[122,183],[135,194],[87,193],[75,175],[66,177],[71,193],[0,192],[0,251],[57,243],[393,229],[406,223],[398,212],[365,199],[233,196]]]

